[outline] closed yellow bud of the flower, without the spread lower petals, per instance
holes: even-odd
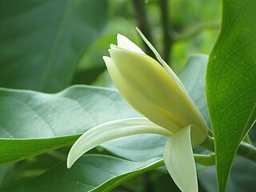
[[[104,57],[110,76],[122,97],[151,122],[175,134],[193,124],[193,145],[201,144],[207,126],[184,88],[154,58],[118,34],[118,46],[110,46],[110,58]]]

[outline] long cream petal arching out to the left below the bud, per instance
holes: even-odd
[[[126,118],[103,123],[86,131],[85,134],[78,138],[68,154],[67,167],[70,168],[82,154],[103,142],[134,134],[163,134],[170,136],[170,131],[155,125],[147,118]]]

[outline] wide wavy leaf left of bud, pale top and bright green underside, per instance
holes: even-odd
[[[73,86],[41,94],[0,89],[0,165],[70,145],[103,122],[136,117],[115,90]]]

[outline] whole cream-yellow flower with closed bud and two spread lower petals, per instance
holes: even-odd
[[[118,34],[118,46],[110,45],[110,57],[103,59],[122,97],[146,118],[106,122],[86,131],[72,146],[67,166],[103,142],[134,134],[162,134],[170,137],[163,158],[174,182],[183,192],[198,191],[192,146],[206,140],[206,122],[176,74],[138,33],[161,64],[122,34]]]

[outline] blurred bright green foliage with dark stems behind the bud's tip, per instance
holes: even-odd
[[[106,30],[82,55],[74,82],[91,83],[92,78],[86,78],[90,77],[88,73],[94,78],[102,74],[105,70],[102,55],[109,55],[107,50],[110,43],[116,43],[117,33],[126,35],[154,57],[134,30],[135,26],[178,72],[191,54],[210,54],[220,30],[220,10],[220,1],[216,0],[109,1]],[[103,82],[101,79],[97,79],[97,85],[106,86],[106,79]]]

